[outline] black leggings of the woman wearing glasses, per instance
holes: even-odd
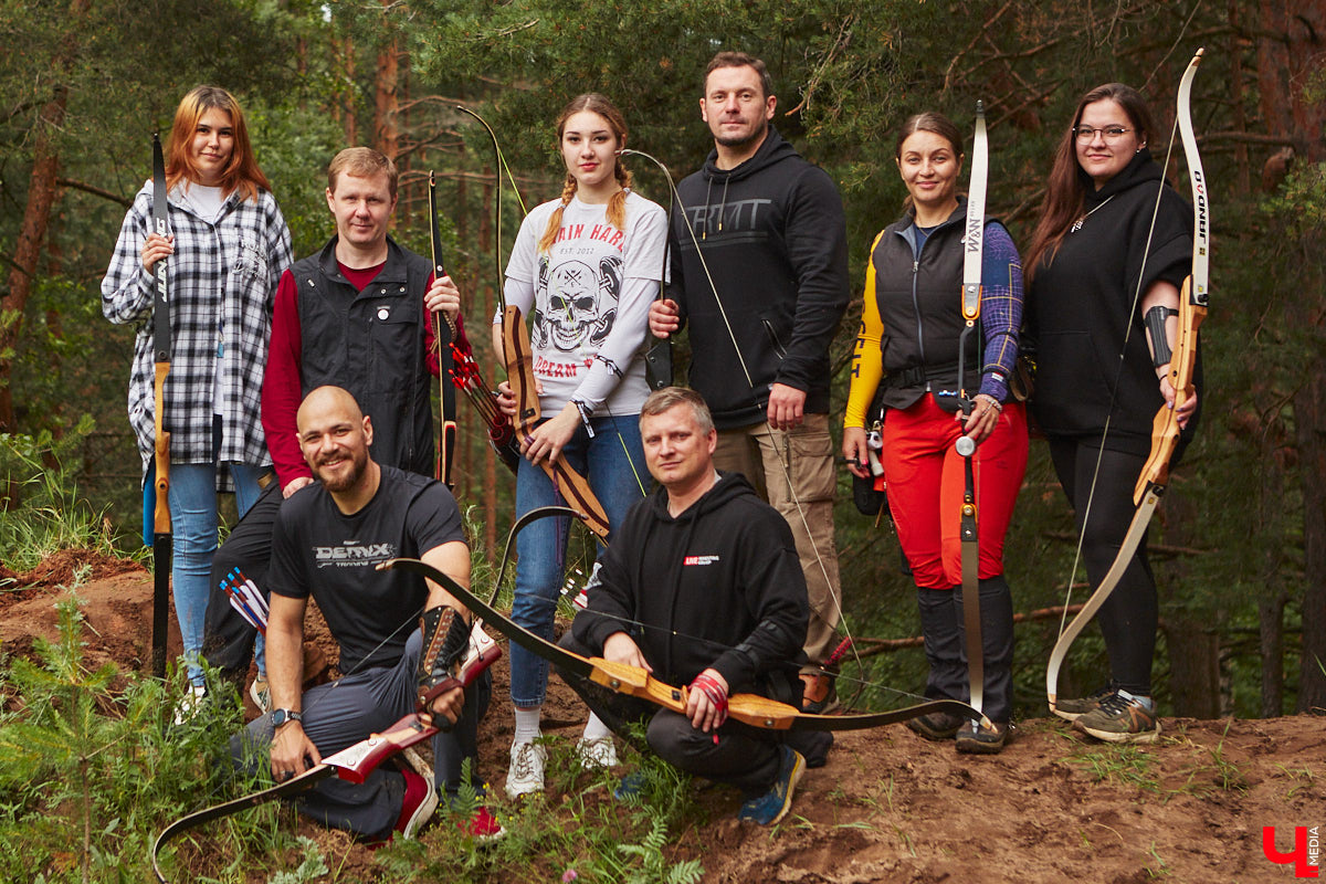
[[[1050,439],[1050,459],[1059,484],[1073,505],[1074,522],[1082,539],[1082,559],[1095,588],[1119,554],[1136,506],[1132,488],[1146,465],[1146,456],[1109,451],[1102,455],[1098,437]],[[1087,517],[1097,457],[1095,494]],[[1083,533],[1082,520],[1087,518]],[[1142,537],[1123,578],[1101,607],[1101,634],[1110,655],[1110,677],[1128,693],[1151,696],[1151,659],[1156,647],[1156,582],[1147,562],[1147,538]]]

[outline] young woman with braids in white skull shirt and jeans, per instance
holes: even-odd
[[[516,513],[564,502],[540,465],[561,457],[589,480],[615,530],[644,496],[638,417],[648,384],[640,345],[660,284],[667,217],[630,190],[631,174],[618,156],[626,147],[626,121],[607,98],[590,93],[573,99],[557,121],[557,138],[566,163],[562,193],[525,217],[507,265],[507,304],[530,318],[545,417],[521,443]],[[493,322],[500,351],[501,315]],[[503,383],[500,390],[504,410],[514,415],[511,387]],[[548,639],[568,529],[565,518],[541,520],[516,542],[512,619]],[[545,754],[534,741],[548,663],[512,645],[511,669],[516,736],[507,793],[514,798],[544,787]],[[597,717],[579,751],[589,765],[617,762],[611,736]]]

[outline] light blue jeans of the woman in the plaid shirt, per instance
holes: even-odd
[[[243,517],[263,490],[257,480],[267,468],[252,464],[225,467],[235,481],[235,501]],[[211,592],[208,575],[212,570],[212,554],[216,551],[216,464],[171,464],[170,518],[174,534],[171,582],[175,618],[184,640],[188,680],[202,685],[203,669],[198,659],[203,649],[203,622]]]

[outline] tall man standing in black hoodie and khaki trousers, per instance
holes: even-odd
[[[668,298],[650,310],[666,338],[691,334],[691,384],[713,411],[713,461],[744,474],[792,526],[810,592],[804,708],[837,705],[818,664],[841,614],[834,545],[829,345],[847,307],[847,231],[838,190],[770,125],[765,65],[720,52],[700,115],[704,168],[678,187]]]

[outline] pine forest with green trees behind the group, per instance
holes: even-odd
[[[854,302],[834,343],[834,423],[861,311],[867,249],[900,211],[898,125],[937,109],[964,131],[985,102],[989,213],[1025,245],[1055,140],[1078,97],[1122,81],[1174,121],[1197,46],[1193,122],[1211,183],[1212,297],[1203,329],[1205,419],[1152,524],[1162,592],[1156,661],[1175,714],[1276,716],[1326,708],[1326,9],[1317,0],[0,0],[0,518],[30,506],[24,453],[61,452],[80,494],[106,508],[129,549],[139,530],[139,461],[125,416],[133,330],[101,315],[99,281],[119,221],[196,83],[233,91],[294,237],[332,232],[325,168],[347,144],[402,167],[395,237],[427,253],[427,174],[439,178],[447,264],[492,380],[487,317],[495,262],[520,219],[495,207],[495,127],[526,205],[554,196],[553,123],[582,91],[626,114],[630,146],[690,174],[711,142],[700,74],[719,49],[769,62],[776,125],[839,183]],[[1163,131],[1152,150],[1164,155]],[[1176,147],[1176,156],[1181,151]],[[631,162],[666,203],[660,175]],[[1187,170],[1170,164],[1188,195]],[[500,249],[495,208],[501,209]],[[956,298],[956,293],[955,293]],[[680,355],[680,354],[679,354]],[[513,482],[461,406],[457,497],[495,550]],[[84,420],[90,415],[93,421]],[[1018,626],[1024,714],[1044,710],[1044,663],[1074,554],[1071,516],[1044,444],[1033,443],[1005,550]],[[851,506],[841,473],[838,543],[859,677],[919,685],[914,592],[896,539]],[[496,554],[496,553],[493,553]],[[1085,598],[1079,570],[1074,600]],[[1103,677],[1087,630],[1063,693]],[[863,704],[894,702],[882,689]]]

